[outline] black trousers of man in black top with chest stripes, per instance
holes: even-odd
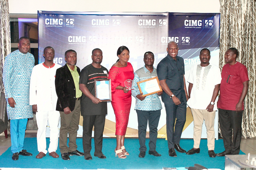
[[[83,116],[83,147],[84,155],[90,153],[92,149],[92,131],[94,126],[94,153],[102,153],[103,130],[106,115],[86,115]]]

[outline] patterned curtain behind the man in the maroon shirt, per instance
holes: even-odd
[[[220,68],[228,48],[239,51],[237,58],[247,67],[249,90],[244,99],[242,137],[256,136],[256,1],[220,0]]]

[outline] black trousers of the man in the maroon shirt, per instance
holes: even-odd
[[[242,137],[242,118],[243,111],[229,111],[218,109],[221,134],[226,153],[238,155],[240,152],[240,143]],[[232,142],[233,129],[233,142]]]

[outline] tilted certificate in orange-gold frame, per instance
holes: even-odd
[[[140,93],[143,93],[142,95],[143,97],[163,91],[159,84],[158,77],[145,79],[143,81],[137,82],[137,84],[138,84]]]

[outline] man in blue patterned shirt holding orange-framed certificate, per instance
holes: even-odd
[[[157,143],[157,126],[161,115],[161,101],[157,94],[151,94],[149,96],[142,96],[137,85],[145,79],[157,77],[157,70],[154,68],[154,54],[150,51],[145,52],[144,59],[145,66],[134,72],[134,80],[132,83],[131,94],[136,98],[135,110],[138,116],[138,134],[140,142],[140,158],[144,158],[147,147],[145,145],[147,125],[149,126],[149,151],[148,154],[154,156],[161,156],[156,151]]]

